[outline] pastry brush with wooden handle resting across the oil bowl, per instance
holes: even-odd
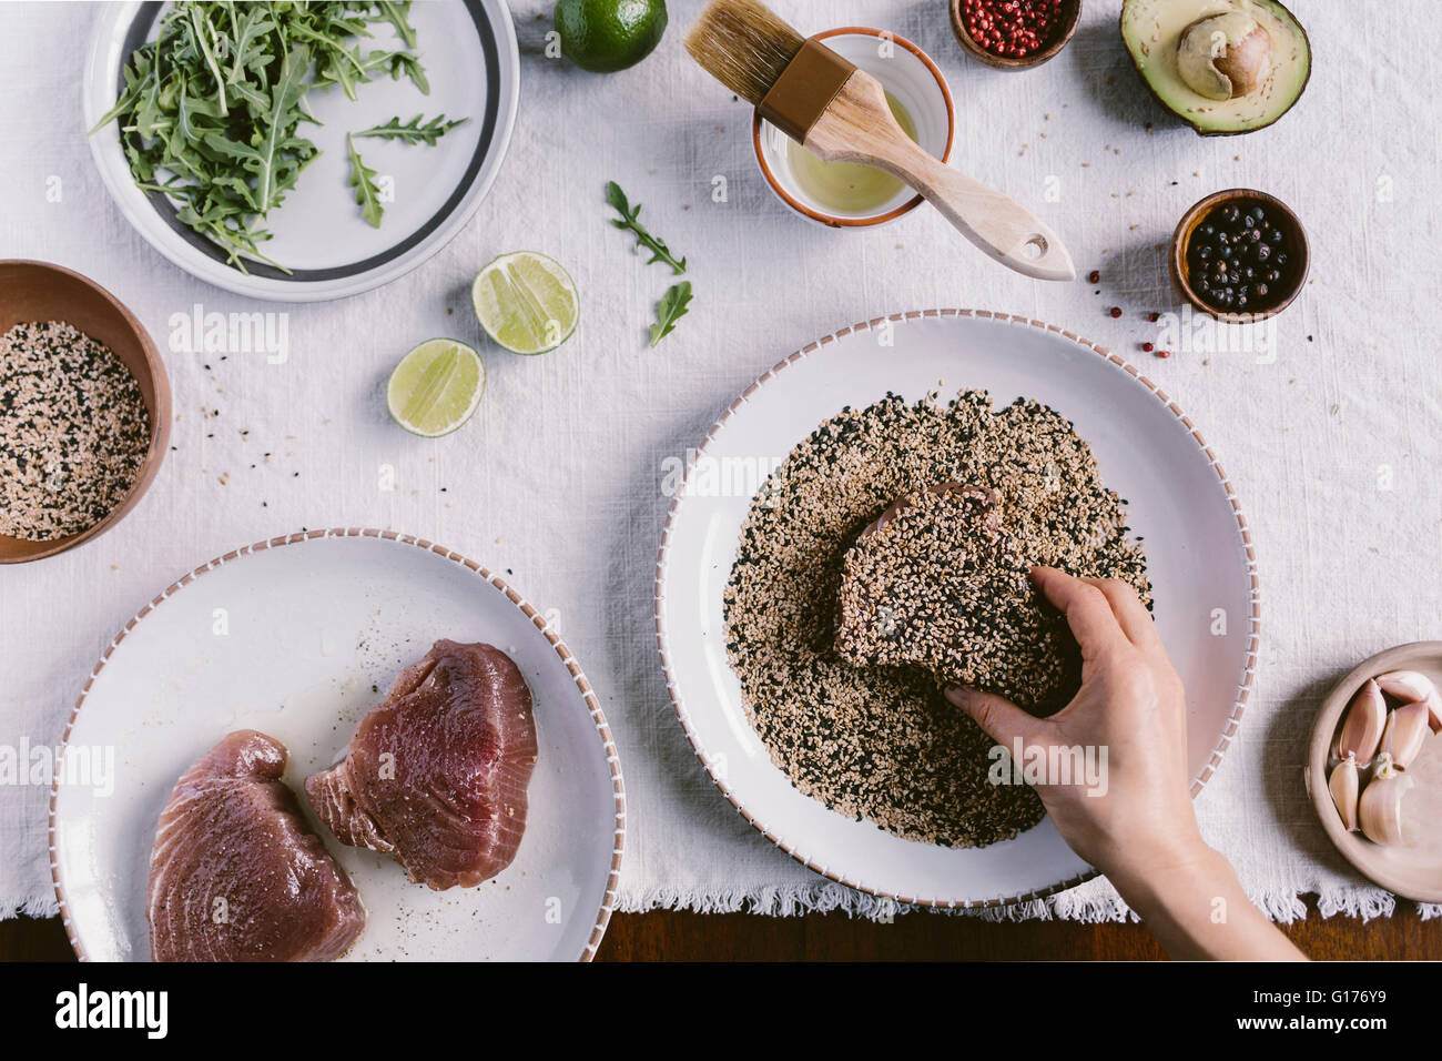
[[[711,0],[686,51],[761,117],[826,162],[861,162],[900,178],[968,240],[1038,280],[1076,280],[1061,240],[1031,211],[959,173],[908,137],[881,82],[757,0]]]

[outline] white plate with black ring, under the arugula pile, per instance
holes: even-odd
[[[114,105],[131,52],[156,36],[169,4],[146,0],[101,4],[84,72],[85,128]],[[265,228],[262,253],[290,273],[247,260],[242,273],[225,253],[176,219],[174,202],[136,186],[115,123],[89,137],[101,178],[125,219],[147,243],[192,276],[238,294],[322,302],[371,290],[420,266],[454,238],[476,212],[500,169],[521,92],[521,59],[505,0],[424,0],[412,4],[415,51],[430,94],[389,75],[359,85],[313,91],[306,104],[324,124],[304,126],[322,154],[301,175]],[[397,48],[389,26],[373,27],[369,48]],[[444,113],[467,121],[434,147],[363,141],[362,157],[384,179],[379,228],[360,217],[349,188],[346,131]]]

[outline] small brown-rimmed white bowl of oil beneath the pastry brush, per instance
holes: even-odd
[[[906,38],[845,26],[816,35],[842,58],[877,78],[897,124],[946,162],[956,114],[946,78]],[[777,198],[802,217],[832,228],[883,225],[921,204],[901,180],[854,162],[822,162],[760,114],[751,121],[756,162]]]

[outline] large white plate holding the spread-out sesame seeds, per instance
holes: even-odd
[[[842,406],[887,391],[1025,396],[1071,419],[1103,481],[1131,501],[1146,540],[1156,625],[1187,683],[1188,759],[1198,791],[1236,732],[1252,686],[1260,612],[1256,560],[1231,486],[1191,422],[1120,358],[1051,325],[972,310],[926,310],[846,328],[792,354],[753,384],[696,458],[754,468],[784,458]],[[699,466],[699,465],[694,465]],[[712,475],[709,482],[724,482]],[[725,657],[721,595],[751,505],[744,491],[672,502],[656,569],[656,637],[691,743],[725,797],[793,857],[852,888],[901,902],[973,907],[1037,898],[1094,873],[1050,818],[1014,840],[952,850],[903,840],[802,795],[746,719]],[[1221,609],[1220,612],[1217,609]],[[1217,634],[1218,616],[1226,632]]]

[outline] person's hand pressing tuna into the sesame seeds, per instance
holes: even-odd
[[[1051,567],[1035,567],[1031,577],[1082,647],[1082,687],[1071,703],[1038,719],[991,693],[949,689],[946,697],[1008,752],[1019,739],[1024,756],[1053,748],[1094,756],[1096,778],[1045,778],[1037,793],[1066,842],[1106,873],[1169,954],[1304,957],[1201,839],[1181,678],[1135,590]]]

